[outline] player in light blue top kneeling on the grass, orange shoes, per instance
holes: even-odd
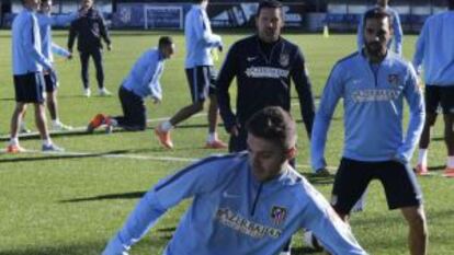
[[[87,131],[92,132],[103,124],[106,125],[107,132],[111,132],[114,127],[122,127],[129,131],[145,130],[147,127],[145,98],[150,96],[155,104],[161,102],[162,89],[159,79],[163,72],[164,61],[173,53],[172,38],[169,36],[160,37],[158,48],[144,53],[120,86],[118,97],[122,103],[123,116],[109,117],[104,114],[98,114],[88,125]]]

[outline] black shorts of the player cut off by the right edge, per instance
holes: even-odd
[[[425,112],[436,114],[441,107],[443,114],[454,114],[454,85],[425,85]]]

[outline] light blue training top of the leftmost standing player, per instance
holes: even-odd
[[[42,72],[43,67],[52,69],[52,63],[42,53],[39,26],[34,11],[24,9],[12,24],[13,74]]]

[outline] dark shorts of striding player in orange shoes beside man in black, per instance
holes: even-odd
[[[208,95],[216,93],[216,70],[211,66],[186,69],[186,78],[193,103],[203,102]]]

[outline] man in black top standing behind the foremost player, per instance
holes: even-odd
[[[220,69],[217,97],[220,116],[230,134],[229,150],[247,149],[245,124],[266,106],[291,109],[291,79],[295,83],[307,135],[310,137],[315,105],[305,60],[298,46],[281,37],[284,25],[282,4],[263,1],[259,5],[257,35],[234,44]],[[230,107],[228,88],[237,78],[237,112]]]

